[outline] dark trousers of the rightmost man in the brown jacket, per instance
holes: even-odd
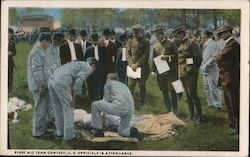
[[[239,131],[239,110],[240,110],[240,92],[239,84],[230,84],[223,86],[224,100],[227,108],[228,117],[235,127],[236,131]]]

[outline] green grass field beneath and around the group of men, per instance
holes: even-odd
[[[14,75],[14,88],[12,96],[23,99],[32,105],[34,101],[27,86],[27,58],[31,45],[20,42],[17,44],[17,55],[14,57],[17,70]],[[150,77],[147,81],[146,106],[143,112],[136,114],[153,113],[163,114],[166,108],[163,104],[161,93],[156,83],[156,78]],[[138,102],[138,88],[136,89],[135,102]],[[199,77],[198,94],[202,103],[202,112],[205,124],[201,128],[195,127],[193,122],[186,127],[178,128],[178,136],[159,141],[143,141],[142,143],[90,143],[77,141],[68,144],[65,141],[58,142],[54,138],[39,140],[32,137],[32,110],[22,111],[19,114],[19,123],[9,123],[10,148],[11,149],[76,149],[76,150],[174,150],[174,151],[237,151],[239,150],[239,136],[230,136],[228,131],[229,119],[225,109],[221,113],[214,113],[208,109],[202,79]],[[90,104],[87,97],[77,99],[77,108],[83,108],[90,112]],[[180,118],[185,119],[189,115],[186,97],[178,102]]]

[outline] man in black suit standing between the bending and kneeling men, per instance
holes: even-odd
[[[105,84],[105,54],[104,48],[98,45],[98,35],[92,36],[93,45],[86,49],[85,58],[94,58],[96,60],[96,70],[87,78],[88,92],[91,101],[100,100],[103,97],[103,87]]]

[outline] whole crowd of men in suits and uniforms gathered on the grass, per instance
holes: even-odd
[[[166,112],[177,116],[177,100],[181,99],[181,94],[175,91],[172,82],[182,82],[190,112],[187,120],[201,126],[202,105],[197,93],[199,71],[204,78],[209,108],[221,112],[223,101],[218,86],[222,86],[230,127],[234,129],[230,134],[239,134],[240,44],[233,38],[230,26],[221,26],[214,32],[202,31],[201,42],[191,39],[184,28],[166,34],[164,27],[156,26],[150,36],[145,35],[141,24],[134,25],[132,30],[132,35],[116,36],[114,30],[106,28],[100,37],[97,33],[89,36],[83,29],[79,38],[74,28],[53,35],[40,33],[28,58],[28,85],[35,100],[34,137],[45,136],[46,123],[54,118],[56,138],[74,139],[75,97],[87,89],[92,102],[92,133],[103,136],[101,113],[108,113],[121,117],[120,135],[139,138],[137,129],[129,127],[135,108],[134,90],[138,82],[138,106],[143,110],[147,91],[150,91],[145,87],[150,73],[157,77]],[[9,37],[9,56],[13,55],[15,48]],[[159,73],[152,61],[159,55],[170,67],[167,72]],[[127,77],[127,66],[133,71],[141,68],[141,77]],[[10,71],[9,81],[12,82]],[[12,83],[10,90],[11,87]]]

